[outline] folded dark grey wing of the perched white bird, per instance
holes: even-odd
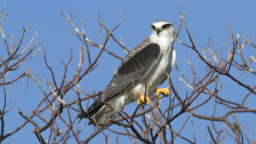
[[[147,40],[146,40],[147,41]],[[121,65],[114,73],[113,78],[104,90],[88,109],[88,114],[96,113],[104,104],[100,101],[109,101],[113,96],[118,95],[124,89],[130,88],[144,77],[145,72],[150,72],[161,54],[158,43],[141,43],[125,57]]]

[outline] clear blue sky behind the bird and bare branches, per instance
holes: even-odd
[[[1,26],[3,27],[3,32],[6,32],[6,35],[14,34],[14,37],[20,37],[22,33],[22,25],[27,26],[31,23],[31,26],[27,32],[24,46],[30,41],[34,36],[33,26],[36,28],[38,33],[38,43],[43,43],[46,49],[46,55],[49,61],[49,64],[53,67],[56,76],[61,76],[63,71],[63,66],[61,65],[61,60],[67,60],[70,57],[70,49],[73,49],[73,55],[79,55],[79,44],[80,41],[69,29],[69,23],[65,20],[61,11],[66,13],[72,12],[73,22],[76,26],[81,28],[81,21],[84,20],[84,29],[86,36],[89,37],[92,41],[98,41],[98,20],[96,18],[97,14],[101,15],[102,21],[109,29],[113,29],[119,23],[121,13],[123,14],[123,22],[121,26],[113,33],[115,37],[122,37],[122,43],[128,49],[134,48],[138,43],[141,43],[143,37],[148,37],[151,33],[151,24],[155,20],[169,20],[173,23],[174,27],[177,29],[180,21],[180,14],[177,11],[179,8],[182,12],[188,9],[185,19],[187,25],[189,26],[189,31],[193,34],[195,38],[195,43],[198,48],[205,47],[208,43],[208,37],[211,37],[211,43],[213,46],[218,43],[222,49],[225,48],[224,37],[228,43],[230,43],[230,32],[228,30],[228,23],[234,32],[234,34],[240,34],[243,37],[243,32],[246,32],[247,37],[256,37],[256,1],[18,1],[18,0],[1,0],[0,9],[3,9],[5,5],[5,13],[8,14],[8,17],[3,20]],[[177,8],[176,8],[177,6]],[[187,37],[185,31],[182,31],[178,37],[184,43],[189,43],[189,38]],[[252,41],[255,43],[255,39]],[[0,55],[4,52],[3,47],[3,37],[0,40]],[[39,45],[38,45],[39,46]],[[107,49],[113,51],[117,55],[124,57],[125,51],[119,48],[119,45],[110,42],[107,45]],[[186,71],[188,65],[183,59],[190,60],[192,64],[197,65],[201,64],[201,61],[198,60],[195,53],[188,48],[185,48],[180,43],[174,43],[174,49],[177,51],[177,64],[180,69]],[[92,55],[95,56],[98,53],[99,49],[93,49]],[[95,52],[95,54],[93,54]],[[255,56],[255,49],[247,49],[246,55]],[[78,65],[78,56],[74,57],[73,63],[69,68],[67,77],[71,78],[73,72]],[[113,72],[119,66],[120,60],[113,58],[113,56],[104,53],[100,59],[100,64],[96,70],[90,73],[89,76],[85,77],[80,85],[84,90],[89,91],[94,89],[97,91],[103,90],[106,88],[110,82]],[[20,72],[23,72],[26,68],[29,67],[33,75],[39,73],[43,78],[49,78],[50,73],[46,70],[44,64],[44,53],[41,51],[33,60],[26,62],[23,68],[20,68]],[[201,65],[199,65],[201,66]],[[195,66],[195,69],[197,67]],[[254,66],[255,68],[255,66]],[[202,69],[203,70],[203,69]],[[237,74],[236,74],[237,76]],[[14,76],[15,77],[15,76]],[[177,70],[173,69],[171,77],[174,81],[181,76],[178,74]],[[59,82],[61,77],[57,77]],[[248,84],[255,84],[254,80],[249,77],[241,77],[241,81],[249,81]],[[254,81],[254,83],[253,83]],[[232,83],[231,81],[226,81],[228,84],[224,85],[224,89],[235,89],[231,93],[221,93],[225,96],[233,96],[234,98],[239,97],[240,95],[245,95],[245,89],[236,89],[240,88],[237,84]],[[32,81],[30,82],[32,83]],[[230,84],[229,84],[230,83]],[[165,83],[166,84],[166,83]],[[163,84],[163,86],[166,86]],[[16,112],[17,108],[27,116],[29,116],[33,109],[38,104],[38,101],[42,99],[42,94],[40,89],[36,88],[35,84],[29,84],[27,89],[27,94],[25,95],[26,83],[17,83],[15,85],[18,89],[18,97],[14,109],[12,110],[13,115],[6,115],[6,132],[14,130],[15,127],[21,124],[24,119]],[[2,88],[0,89],[0,94],[3,94]],[[181,94],[185,94],[179,89]],[[9,90],[9,95],[13,95],[13,90]],[[72,94],[69,94],[73,100]],[[74,95],[74,94],[73,94]],[[2,95],[0,95],[0,101],[2,101]],[[75,97],[76,98],[76,97]],[[13,96],[8,97],[8,101],[11,103],[13,101]],[[253,99],[255,101],[255,99]],[[2,105],[3,103],[0,102]],[[9,107],[11,104],[9,104]],[[135,106],[135,105],[131,105]],[[212,105],[211,105],[212,106]],[[209,106],[209,107],[211,107]],[[249,105],[250,106],[250,105]],[[1,106],[2,107],[2,106]],[[254,107],[254,106],[253,106]],[[126,110],[129,109],[126,107]],[[255,109],[255,107],[254,107]],[[198,110],[198,112],[204,112],[203,110]],[[224,109],[221,111],[225,111]],[[212,113],[212,112],[211,112]],[[186,114],[185,114],[186,115]],[[242,115],[245,116],[245,115]],[[195,135],[198,138],[197,143],[207,143],[206,138],[203,136],[203,132],[207,133],[207,124],[204,124],[203,121],[196,121],[195,118],[194,124],[197,125],[195,128]],[[242,126],[247,128],[247,124],[253,124],[253,119],[255,120],[255,114],[249,114],[247,117],[240,117]],[[81,122],[84,124],[84,121]],[[183,124],[183,121],[179,119],[173,121],[172,125]],[[191,122],[187,127],[182,131],[183,135],[191,135]],[[43,125],[43,124],[42,124]],[[40,125],[40,126],[42,126]],[[251,125],[250,125],[251,126]],[[87,127],[91,131],[93,126]],[[256,135],[256,124],[254,123],[251,128],[253,137]],[[66,128],[63,126],[63,130]],[[32,134],[34,127],[32,124],[27,124],[26,127],[20,130],[15,135],[11,136],[10,143],[37,143],[38,140],[34,134]],[[176,128],[178,130],[178,127]],[[43,133],[44,135],[44,133]],[[89,135],[84,132],[84,137]],[[44,135],[45,139],[48,135]],[[110,143],[115,143],[115,135],[111,135]],[[9,139],[3,141],[3,143],[8,143]],[[104,143],[103,135],[98,135],[92,142],[102,141]],[[127,138],[127,141],[130,141]],[[229,140],[224,143],[229,143]]]

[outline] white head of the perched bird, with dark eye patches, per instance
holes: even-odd
[[[167,20],[157,20],[151,25],[151,28],[154,37],[172,37],[175,34],[172,23]]]

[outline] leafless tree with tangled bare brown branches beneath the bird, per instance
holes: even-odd
[[[186,13],[186,12],[185,12]],[[220,48],[217,46],[212,46],[212,43],[208,41],[208,44],[204,48],[198,48],[196,46],[195,40],[192,34],[189,32],[189,26],[186,25],[184,14],[181,13],[180,25],[178,26],[177,34],[174,37],[177,43],[183,45],[186,49],[192,50],[193,55],[197,56],[198,60],[202,62],[200,65],[205,67],[204,73],[198,74],[195,71],[193,64],[186,60],[188,66],[190,67],[191,73],[184,74],[185,70],[179,68],[176,64],[176,71],[179,72],[180,78],[174,83],[173,79],[168,76],[168,86],[172,95],[165,97],[168,105],[162,107],[161,99],[156,99],[155,95],[148,95],[152,100],[150,107],[137,106],[134,107],[132,113],[128,113],[125,109],[122,109],[113,118],[109,119],[107,124],[96,124],[95,131],[92,131],[90,135],[84,136],[80,135],[83,130],[88,129],[87,119],[79,122],[80,119],[77,118],[79,112],[85,112],[88,108],[89,101],[95,101],[96,96],[100,95],[101,92],[94,92],[91,94],[90,91],[85,91],[79,85],[79,82],[90,72],[94,71],[98,64],[99,58],[102,56],[103,52],[108,53],[109,56],[115,57],[117,60],[123,60],[122,57],[116,55],[113,51],[108,50],[106,44],[108,41],[114,41],[119,44],[120,49],[126,49],[121,40],[113,35],[113,32],[120,26],[123,17],[119,20],[119,24],[113,28],[113,30],[108,29],[104,25],[100,15],[98,15],[99,20],[99,40],[98,42],[93,42],[90,40],[89,36],[84,33],[84,24],[82,21],[82,29],[80,30],[74,23],[71,13],[63,14],[63,18],[66,19],[70,25],[70,31],[73,32],[75,37],[80,40],[79,45],[79,57],[73,57],[73,51],[71,50],[70,59],[64,62],[61,60],[64,71],[62,75],[62,80],[57,81],[55,78],[55,72],[49,66],[49,61],[47,60],[46,50],[44,49],[44,44],[37,43],[37,32],[36,29],[35,37],[32,37],[31,42],[27,43],[26,46],[21,44],[23,38],[26,37],[26,30],[29,26],[23,26],[23,33],[20,39],[14,40],[13,36],[7,38],[1,22],[4,20],[6,14],[4,14],[4,8],[0,14],[0,32],[3,37],[3,42],[6,48],[5,55],[0,55],[0,67],[2,72],[0,72],[0,88],[1,88],[1,132],[0,132],[0,142],[8,141],[9,138],[23,129],[26,124],[32,124],[34,130],[32,133],[37,136],[40,143],[67,143],[67,140],[72,139],[77,143],[88,143],[96,135],[102,133],[104,135],[105,141],[108,143],[109,135],[106,135],[106,131],[113,135],[125,136],[131,140],[131,143],[174,143],[174,140],[179,137],[188,143],[196,143],[197,137],[195,136],[195,126],[193,121],[191,124],[191,134],[193,139],[189,139],[188,135],[182,135],[181,131],[184,129],[185,125],[189,124],[190,118],[203,119],[204,121],[211,122],[211,125],[207,125],[207,131],[205,131],[205,136],[209,143],[222,143],[224,139],[231,138],[234,143],[256,143],[255,135],[251,135],[250,130],[253,128],[248,124],[247,128],[241,127],[241,122],[236,118],[239,114],[256,113],[256,109],[247,106],[246,101],[249,97],[256,95],[256,84],[249,85],[247,81],[239,80],[241,75],[250,75],[252,79],[255,79],[256,72],[251,68],[255,65],[255,55],[246,57],[244,54],[247,53],[247,49],[256,49],[255,44],[252,41],[252,37],[247,38],[244,32],[244,38],[241,39],[239,35],[235,36],[231,30],[230,24],[228,25],[228,30],[230,31],[230,37],[232,39],[231,43],[228,43],[224,39],[226,44],[225,48]],[[106,32],[106,37],[102,36],[102,32]],[[189,37],[189,43],[183,43],[178,37],[180,32],[184,32]],[[39,45],[39,46],[38,46]],[[39,48],[37,48],[39,47]],[[40,49],[44,49],[44,63],[47,66],[50,78],[45,79],[40,77],[39,74],[34,75],[32,71],[28,68],[22,73],[17,73],[20,66],[26,60],[32,60],[35,55],[38,54]],[[96,57],[91,56],[91,49],[100,49]],[[227,51],[224,52],[224,49]],[[84,55],[85,54],[85,55]],[[95,55],[95,54],[94,54]],[[69,68],[70,62],[73,58],[79,58],[79,65],[75,72],[73,72],[72,78],[67,78],[67,69]],[[230,72],[232,68],[233,71],[240,72],[239,75],[232,74]],[[174,70],[173,70],[174,71]],[[187,72],[186,72],[187,73]],[[15,76],[14,79],[9,79],[10,75]],[[12,85],[12,89],[15,89],[15,83],[20,81],[20,79],[26,78],[26,84],[34,83],[41,89],[41,94],[43,98],[38,102],[37,107],[31,113],[18,112],[21,118],[24,118],[24,123],[20,124],[15,130],[8,133],[5,132],[6,125],[5,121],[8,118],[7,113],[16,112],[13,110],[15,101],[13,105],[9,107],[6,102],[7,97],[13,96],[8,95],[6,88]],[[68,80],[67,80],[68,79]],[[228,94],[232,89],[223,89],[224,84],[223,79],[230,79],[233,83],[238,84],[241,89],[247,89],[246,95],[241,95],[241,101],[230,101],[224,95],[219,95],[220,91]],[[177,91],[178,84],[183,84],[186,89],[185,95]],[[14,95],[16,97],[16,95]],[[41,95],[37,95],[42,97]],[[15,99],[16,100],[16,99]],[[200,100],[198,102],[198,100]],[[82,105],[85,103],[86,105]],[[195,110],[207,105],[209,102],[214,103],[209,112],[211,114],[205,115],[201,113],[196,113]],[[218,110],[223,110],[223,114],[218,112]],[[75,113],[75,114],[74,114]],[[6,116],[6,117],[5,117]],[[177,118],[183,118],[182,126],[179,130],[172,129],[172,121]],[[195,120],[194,120],[195,121]],[[76,124],[84,124],[84,126],[76,127]],[[102,130],[100,126],[106,126],[106,130]],[[119,126],[120,129],[115,129]],[[221,129],[220,129],[221,128]],[[44,132],[44,134],[43,134]],[[47,139],[45,137],[47,136]],[[116,138],[116,142],[119,142],[119,138]]]

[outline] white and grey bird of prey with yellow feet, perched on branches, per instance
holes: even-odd
[[[106,124],[132,101],[149,105],[147,95],[154,91],[157,95],[170,95],[168,89],[157,87],[166,80],[166,73],[172,71],[176,58],[172,47],[175,30],[166,20],[155,21],[151,28],[152,34],[125,56],[102,95],[79,118],[93,116],[89,124]]]

